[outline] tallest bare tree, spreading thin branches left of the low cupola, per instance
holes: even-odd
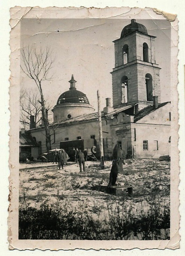
[[[52,59],[52,50],[46,46],[41,46],[37,49],[36,46],[22,47],[22,71],[35,82],[39,93],[40,93],[40,104],[42,111],[42,119],[44,123],[44,129],[46,133],[46,148],[47,151],[51,149],[49,122],[46,114],[45,101],[42,91],[42,82],[44,80],[51,80],[52,77],[49,75],[49,71],[52,68],[54,59]]]

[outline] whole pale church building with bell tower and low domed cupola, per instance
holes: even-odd
[[[161,103],[155,37],[132,19],[123,28],[121,37],[114,41],[114,47],[113,106],[107,98],[102,111],[105,159],[111,158],[116,143],[121,145],[126,158],[170,155],[170,101]],[[60,143],[67,140],[91,140],[96,145],[98,157],[98,114],[88,97],[77,90],[73,75],[69,83],[69,90],[61,94],[52,110],[52,149],[59,148]],[[40,154],[46,152],[43,126],[35,128],[31,123],[26,133],[35,138]]]

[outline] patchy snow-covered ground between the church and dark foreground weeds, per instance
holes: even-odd
[[[68,211],[88,212],[94,219],[106,219],[116,211],[122,218],[143,214],[149,211],[151,200],[160,205],[161,211],[170,205],[170,163],[166,161],[126,160],[125,177],[119,174],[119,183],[126,185],[127,180],[133,187],[133,196],[125,198],[102,189],[109,182],[110,161],[105,162],[104,170],[98,162],[85,162],[86,172],[82,173],[78,164],[64,165],[64,170],[52,163],[20,166],[20,207],[58,203]]]

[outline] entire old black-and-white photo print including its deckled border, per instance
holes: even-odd
[[[10,14],[9,249],[179,248],[176,15]]]

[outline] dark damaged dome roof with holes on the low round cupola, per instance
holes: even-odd
[[[58,104],[64,103],[85,103],[89,104],[87,96],[80,91],[77,91],[76,88],[73,88],[69,91],[63,92],[59,99],[57,100]]]

